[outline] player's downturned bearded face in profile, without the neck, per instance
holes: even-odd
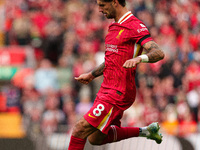
[[[103,0],[97,0],[99,6],[99,12],[103,13],[108,19],[115,18],[116,10],[113,7],[113,2],[104,2]]]

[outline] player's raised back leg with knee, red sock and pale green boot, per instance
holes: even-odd
[[[159,129],[158,123],[152,123],[141,128],[111,125],[107,135],[97,130],[88,137],[88,140],[92,145],[102,145],[139,136],[155,140],[156,143],[160,144],[162,142],[162,135],[159,133]]]

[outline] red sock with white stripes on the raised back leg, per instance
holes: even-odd
[[[108,136],[104,139],[102,144],[117,142],[123,139],[139,136],[138,127],[118,127],[111,126],[108,131]]]

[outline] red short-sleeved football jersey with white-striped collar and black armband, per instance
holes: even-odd
[[[104,80],[98,95],[103,89],[132,93],[135,97],[135,70],[123,68],[126,60],[142,53],[142,45],[152,38],[145,24],[130,11],[116,23],[109,26],[105,38],[105,68]],[[112,89],[112,90],[109,90]],[[120,94],[119,93],[119,94]],[[126,96],[127,97],[127,96]]]

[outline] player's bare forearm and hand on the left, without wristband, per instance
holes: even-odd
[[[105,62],[103,62],[98,67],[94,68],[91,72],[81,74],[79,77],[75,77],[75,80],[83,84],[90,83],[94,78],[103,75],[103,70],[105,68]]]

